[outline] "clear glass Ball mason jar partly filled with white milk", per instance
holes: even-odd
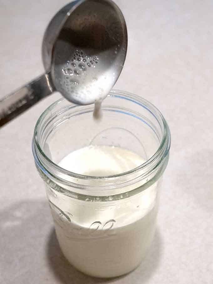
[[[114,277],[135,269],[152,243],[170,132],[158,109],[127,92],[110,92],[101,122],[92,119],[93,108],[56,101],[39,117],[32,147],[65,257],[86,274]],[[111,176],[59,166],[89,145],[122,147],[144,163]]]

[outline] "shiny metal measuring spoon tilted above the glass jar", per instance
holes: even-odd
[[[103,99],[122,71],[126,51],[126,23],[114,2],[67,4],[44,34],[45,74],[0,100],[0,126],[55,91],[76,104]]]

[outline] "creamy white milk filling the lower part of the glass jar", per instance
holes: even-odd
[[[90,146],[70,153],[60,166],[75,173],[104,176],[128,171],[143,162],[126,149]],[[91,276],[114,277],[140,264],[154,235],[157,183],[122,200],[63,199],[60,209],[51,206],[52,215],[61,250],[73,266]]]

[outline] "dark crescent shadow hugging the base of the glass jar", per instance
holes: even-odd
[[[135,274],[134,284],[146,283],[146,281],[148,281],[148,279],[152,276],[153,272],[158,267],[161,255],[162,239],[159,229],[157,228],[152,247],[148,251],[148,254],[143,263],[138,268],[124,276],[102,279],[87,276],[82,272],[76,270],[69,264],[60,250],[60,246],[55,234],[55,229],[51,231],[47,244],[47,257],[50,269],[54,271],[55,276],[60,280],[62,284],[97,284],[112,282],[123,283],[124,277],[131,277],[132,274]]]

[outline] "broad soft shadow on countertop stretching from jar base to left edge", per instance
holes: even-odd
[[[44,199],[22,200],[0,210],[0,232],[0,283],[4,284],[143,284],[156,271],[163,247],[157,230],[147,257],[135,271],[100,279],[77,271],[65,259]]]

